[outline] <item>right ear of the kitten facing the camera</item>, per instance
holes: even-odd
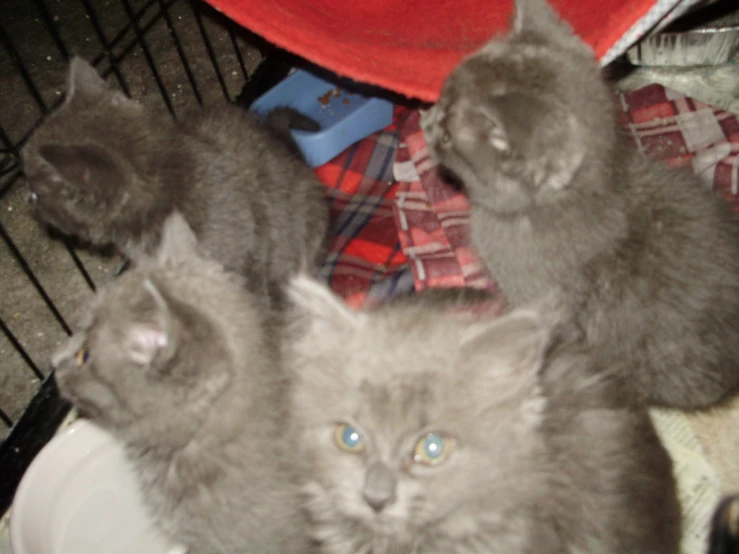
[[[461,357],[470,367],[484,367],[476,383],[491,398],[530,390],[549,349],[551,333],[539,314],[518,309],[492,321],[471,324],[462,337]],[[487,392],[486,392],[487,394]]]

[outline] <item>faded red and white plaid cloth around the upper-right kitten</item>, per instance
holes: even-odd
[[[620,94],[623,122],[637,147],[671,165],[690,163],[739,210],[739,120],[661,85]],[[446,183],[429,158],[417,113],[399,126],[395,164],[400,180],[395,216],[415,288],[494,286],[469,243],[467,199]]]

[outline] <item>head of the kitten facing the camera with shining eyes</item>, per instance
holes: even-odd
[[[316,537],[336,551],[400,552],[499,524],[518,496],[506,491],[528,486],[512,472],[538,444],[549,338],[536,313],[354,312],[306,277],[290,296],[285,360]]]

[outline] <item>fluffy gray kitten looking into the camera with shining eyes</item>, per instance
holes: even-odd
[[[676,554],[671,461],[648,414],[536,311],[469,297],[354,312],[305,277],[287,367],[325,554]],[[440,309],[441,308],[441,309]]]

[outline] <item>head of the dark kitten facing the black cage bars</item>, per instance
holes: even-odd
[[[73,58],[62,106],[21,152],[35,215],[65,234],[110,241],[107,222],[129,201],[130,156],[145,129],[143,108]]]

